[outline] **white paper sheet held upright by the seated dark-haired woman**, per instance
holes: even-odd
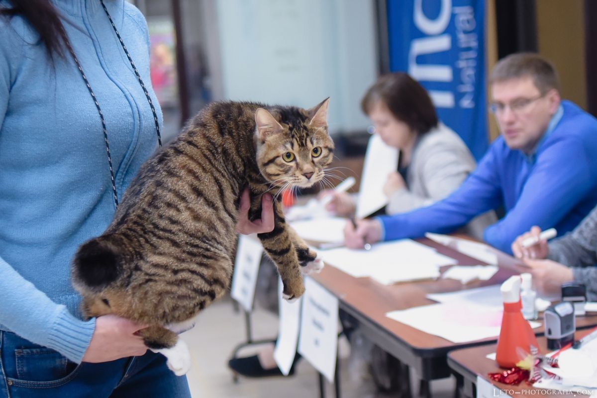
[[[373,135],[367,144],[365,163],[361,176],[359,198],[356,201],[356,217],[364,218],[386,206],[383,193],[387,176],[398,168],[398,150],[384,144],[378,135]]]

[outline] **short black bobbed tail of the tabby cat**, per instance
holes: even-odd
[[[75,254],[73,284],[78,288],[99,291],[122,273],[122,253],[113,235],[102,235],[85,242]]]

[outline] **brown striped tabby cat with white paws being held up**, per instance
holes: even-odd
[[[273,231],[258,234],[284,283],[284,298],[304,292],[303,273],[323,263],[287,225],[279,192],[324,178],[334,144],[328,99],[304,110],[215,102],[141,167],[100,237],[79,247],[72,280],[85,316],[114,313],[149,325],[147,347],[176,374],[190,356],[175,331],[230,285],[239,198],[248,186],[249,218],[273,194]]]

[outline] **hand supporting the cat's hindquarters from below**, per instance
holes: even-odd
[[[147,347],[136,332],[145,327],[146,325],[116,315],[98,316],[96,330],[83,356],[83,362],[109,362],[143,355]]]

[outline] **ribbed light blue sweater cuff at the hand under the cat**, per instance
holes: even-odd
[[[62,307],[48,333],[46,345],[72,362],[81,363],[95,329],[96,318],[81,321],[68,312],[66,307]]]

